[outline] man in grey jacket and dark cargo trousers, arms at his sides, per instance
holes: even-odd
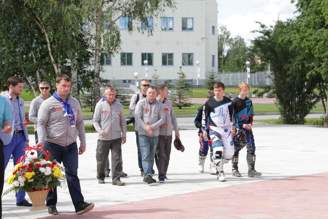
[[[96,148],[98,183],[105,183],[105,163],[109,150],[112,152],[112,183],[124,185],[120,181],[121,174],[121,144],[126,142],[126,120],[123,106],[115,101],[114,87],[105,90],[106,100],[97,103],[92,124],[99,133]],[[122,132],[122,136],[121,136]]]

